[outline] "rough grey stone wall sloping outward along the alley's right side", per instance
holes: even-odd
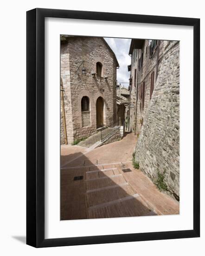
[[[154,92],[149,100],[147,80],[143,125],[135,148],[135,160],[154,182],[164,173],[168,191],[179,199],[179,42],[165,42]],[[149,76],[148,76],[149,77]]]

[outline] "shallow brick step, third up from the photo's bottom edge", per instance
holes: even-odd
[[[112,175],[102,178],[86,180],[86,190],[100,189],[103,187],[113,186],[125,183],[123,175]]]

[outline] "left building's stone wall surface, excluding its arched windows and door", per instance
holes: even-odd
[[[82,61],[85,61],[86,75],[82,74],[82,67],[77,71]],[[98,61],[102,63],[102,75],[93,77]],[[104,100],[104,125],[116,122],[117,62],[102,38],[78,36],[69,37],[62,43],[61,62],[61,76],[63,75],[64,88],[67,88],[64,91],[64,101],[66,102],[66,124],[68,122],[67,137],[70,144],[75,139],[87,137],[96,132],[98,97]],[[64,73],[67,75],[66,79]],[[88,126],[82,124],[81,99],[83,96],[88,96],[90,99],[90,125]]]

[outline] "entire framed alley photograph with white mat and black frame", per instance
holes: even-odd
[[[199,237],[200,20],[26,17],[26,243]]]

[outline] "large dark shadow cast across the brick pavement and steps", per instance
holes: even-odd
[[[96,165],[85,155],[72,165],[61,169],[61,220],[156,215],[126,181],[122,165]]]

